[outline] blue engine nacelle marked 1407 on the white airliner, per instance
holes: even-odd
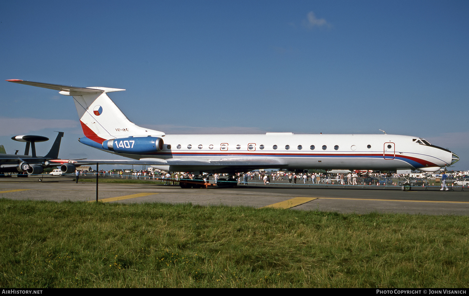
[[[103,142],[103,149],[117,153],[147,154],[161,151],[163,139],[157,137],[129,137]]]

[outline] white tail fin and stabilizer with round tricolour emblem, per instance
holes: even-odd
[[[84,135],[99,144],[105,140],[129,136],[162,136],[165,133],[137,126],[127,118],[119,107],[107,96],[108,92],[125,89],[102,87],[81,88],[59,84],[50,84],[17,79],[10,82],[37,86],[46,89],[60,90],[64,96],[73,96],[76,111]]]

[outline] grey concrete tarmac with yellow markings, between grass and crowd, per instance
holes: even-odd
[[[2,178],[0,198],[12,200],[94,201],[96,184],[78,182],[72,178]],[[99,183],[98,198],[104,202],[192,203],[197,205],[227,205],[266,207],[286,200],[301,200],[287,204],[295,210],[330,211],[366,214],[408,213],[427,215],[469,215],[469,188],[455,191],[421,190],[409,192],[360,186],[282,186],[255,185],[235,188],[209,187],[182,189],[179,185],[110,184]],[[397,188],[394,188],[397,189]],[[304,199],[307,197],[308,199]],[[302,199],[299,199],[302,198]],[[285,203],[283,203],[285,204]]]

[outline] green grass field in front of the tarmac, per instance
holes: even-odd
[[[0,286],[466,287],[465,216],[0,200]]]

